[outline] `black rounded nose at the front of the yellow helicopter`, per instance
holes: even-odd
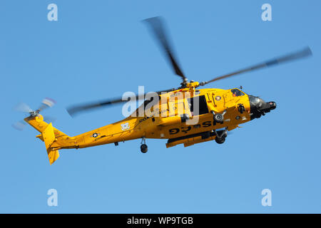
[[[274,101],[265,102],[263,99],[255,97],[254,95],[249,95],[248,97],[250,101],[251,120],[260,118],[262,115],[265,115],[265,113],[270,113],[270,110],[276,108]]]

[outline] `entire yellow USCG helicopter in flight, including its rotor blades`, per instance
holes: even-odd
[[[261,118],[266,113],[276,108],[274,101],[265,102],[262,98],[248,95],[241,88],[228,90],[219,88],[200,88],[209,83],[268,68],[280,63],[286,63],[312,55],[309,47],[300,51],[272,58],[269,61],[258,63],[253,66],[218,76],[210,81],[188,81],[178,65],[177,58],[165,31],[165,24],[161,17],[153,17],[143,20],[158,41],[165,53],[175,75],[182,80],[178,88],[170,88],[153,93],[150,99],[148,93],[135,95],[137,100],[143,100],[132,115],[116,123],[90,130],[81,135],[69,136],[47,123],[40,114],[44,108],[54,105],[51,99],[43,101],[41,108],[31,110],[24,118],[26,123],[41,133],[36,138],[44,141],[52,165],[59,157],[58,150],[79,149],[104,145],[127,140],[141,139],[141,152],[146,153],[148,146],[146,139],[167,139],[166,147],[183,144],[184,147],[195,145],[200,142],[215,140],[218,144],[225,142],[228,131],[238,128],[240,124],[256,118]],[[100,100],[92,103],[71,105],[67,108],[71,116],[96,108],[108,107],[114,104],[128,102],[128,99],[113,98]]]

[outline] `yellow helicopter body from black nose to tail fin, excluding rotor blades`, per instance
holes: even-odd
[[[198,90],[197,86],[189,83],[186,88],[156,94],[127,118],[73,137],[44,122],[39,113],[25,120],[41,133],[36,137],[45,142],[52,164],[60,149],[118,145],[138,138],[168,139],[166,147],[186,147],[209,140],[223,143],[227,131],[276,107],[274,102],[265,103],[238,88]]]

